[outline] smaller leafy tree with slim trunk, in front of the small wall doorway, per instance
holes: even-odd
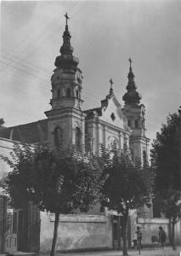
[[[134,164],[127,148],[120,152],[115,144],[110,149],[102,146],[99,161],[105,177],[102,206],[122,215],[123,255],[127,255],[129,212],[144,205],[150,206],[155,174],[146,161],[144,166],[139,160]]]

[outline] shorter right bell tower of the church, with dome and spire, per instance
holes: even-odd
[[[133,160],[138,157],[143,162],[144,158],[148,158],[150,139],[145,136],[145,107],[144,104],[140,104],[142,96],[137,91],[134,82],[131,58],[128,61],[130,67],[127,75],[127,92],[122,96],[122,100],[125,102],[122,113],[127,117],[127,125],[132,130],[129,146]]]

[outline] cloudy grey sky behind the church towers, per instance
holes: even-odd
[[[84,76],[83,110],[97,108],[113,80],[122,107],[129,57],[151,142],[181,105],[181,1],[2,1],[0,118],[5,126],[46,119],[50,78],[68,13]]]

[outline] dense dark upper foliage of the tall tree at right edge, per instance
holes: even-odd
[[[151,160],[156,169],[156,190],[180,189],[179,172],[179,116],[169,114],[167,124],[156,133],[152,143]]]

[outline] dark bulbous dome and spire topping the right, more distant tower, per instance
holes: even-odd
[[[139,94],[136,87],[136,84],[134,82],[134,74],[132,71],[132,60],[129,58],[128,60],[130,62],[130,67],[129,67],[129,73],[127,75],[128,78],[128,84],[127,84],[127,92],[122,96],[122,100],[126,104],[139,104],[142,96]]]

